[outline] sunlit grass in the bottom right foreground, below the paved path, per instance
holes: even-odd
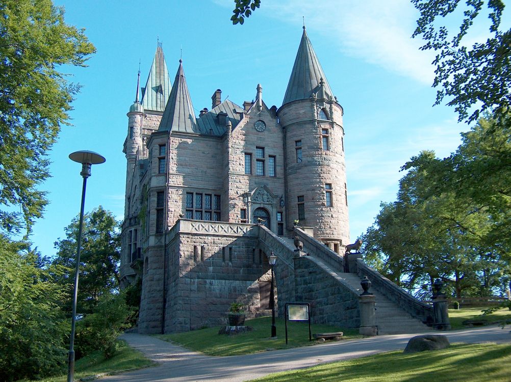
[[[454,344],[404,354],[391,351],[255,379],[258,382],[509,382],[511,345]]]

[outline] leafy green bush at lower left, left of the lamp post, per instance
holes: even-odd
[[[63,371],[69,324],[54,283],[27,245],[0,235],[0,380],[36,379]]]

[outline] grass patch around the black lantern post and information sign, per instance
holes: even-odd
[[[237,335],[219,335],[220,326],[193,330],[188,333],[158,335],[166,341],[178,343],[189,349],[209,355],[240,355],[257,353],[265,350],[286,349],[316,343],[309,342],[309,324],[307,322],[288,322],[288,345],[284,319],[275,320],[277,339],[271,339],[271,317],[260,317],[245,321],[245,325],[253,327],[247,333]],[[358,329],[344,329],[332,325],[312,324],[312,334],[344,332],[344,339],[362,338]]]

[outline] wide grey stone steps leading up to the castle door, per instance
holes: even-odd
[[[360,286],[360,277],[355,273],[338,273],[353,288],[362,293]],[[378,325],[378,334],[404,334],[404,333],[424,333],[429,332],[431,327],[423,324],[420,320],[413,318],[409,313],[401,309],[397,303],[390,301],[383,296],[377,289],[370,288],[376,298],[376,324]]]

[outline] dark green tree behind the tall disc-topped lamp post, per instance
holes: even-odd
[[[68,299],[65,310],[71,312],[71,296],[76,266],[79,216],[65,228],[66,238],[55,242],[54,265],[67,271],[57,279],[64,286]],[[121,239],[119,222],[110,211],[99,206],[83,218],[83,240],[80,254],[80,278],[77,312],[90,313],[103,295],[119,289]]]

